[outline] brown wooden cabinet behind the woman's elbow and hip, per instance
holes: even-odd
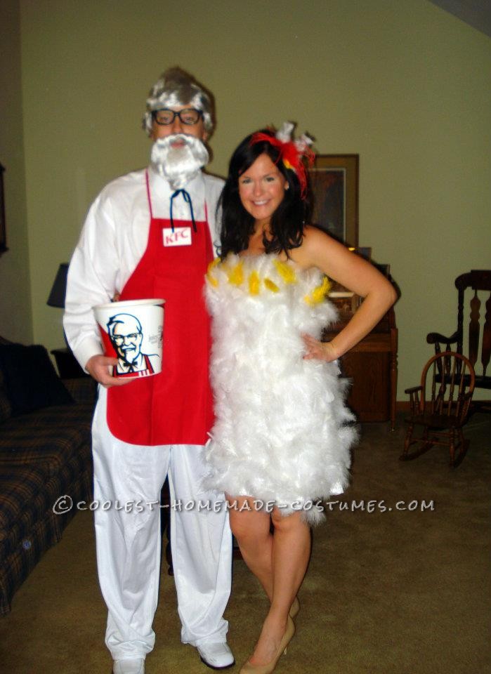
[[[343,312],[340,320],[325,333],[329,341],[351,318]],[[393,308],[365,339],[341,358],[343,376],[351,378],[348,405],[360,421],[391,421],[395,428],[395,396],[397,393],[398,330]]]

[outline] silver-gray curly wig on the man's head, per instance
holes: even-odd
[[[208,133],[213,131],[214,110],[213,96],[199,84],[192,75],[179,67],[172,67],[162,73],[150,89],[147,98],[147,112],[143,117],[143,128],[152,133],[152,112],[164,107],[189,105],[203,113],[204,128]]]

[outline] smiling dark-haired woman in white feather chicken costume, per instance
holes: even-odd
[[[310,139],[293,125],[245,138],[230,160],[221,258],[207,274],[213,316],[216,422],[208,487],[225,491],[230,525],[271,605],[241,674],[268,674],[294,635],[296,593],[317,501],[348,482],[353,415],[337,359],[395,300],[391,284],[342,244],[306,225]],[[331,342],[330,277],[365,298]],[[270,524],[273,522],[273,533]]]

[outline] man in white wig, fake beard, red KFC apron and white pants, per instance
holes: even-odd
[[[114,674],[143,674],[154,646],[161,544],[155,503],[166,475],[176,501],[171,548],[181,640],[197,647],[211,668],[234,664],[223,619],[231,574],[228,517],[214,507],[223,496],[201,487],[213,421],[203,284],[218,239],[222,188],[201,171],[209,159],[203,141],[213,129],[210,96],[172,68],[150,91],[144,125],[154,141],[150,166],[117,178],[92,204],[70,263],[64,317],[74,355],[100,383],[94,498],[143,505],[94,513]],[[166,300],[161,374],[112,376],[117,359],[103,355],[92,307],[114,296]],[[199,501],[208,507],[198,508]]]

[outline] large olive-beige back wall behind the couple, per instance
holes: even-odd
[[[491,40],[427,0],[21,0],[34,338],[63,343],[46,306],[101,187],[142,166],[150,84],[179,64],[217,100],[211,170],[285,119],[320,153],[360,154],[360,245],[402,296],[399,395],[454,329],[454,277],[489,268]],[[0,260],[1,262],[1,260]]]

